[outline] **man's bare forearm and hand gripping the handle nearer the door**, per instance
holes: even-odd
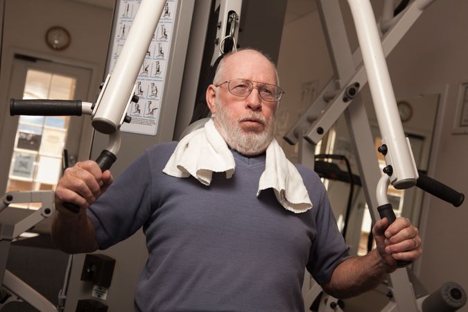
[[[55,189],[55,208],[52,237],[55,244],[68,253],[93,252],[99,248],[92,221],[86,209],[112,184],[110,171],[101,172],[91,160],[78,162],[67,168]],[[65,208],[63,202],[80,206],[75,214]]]

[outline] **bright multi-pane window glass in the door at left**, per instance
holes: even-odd
[[[71,100],[75,89],[76,78],[28,69],[23,98]],[[68,126],[69,116],[19,117],[7,191],[55,189]]]

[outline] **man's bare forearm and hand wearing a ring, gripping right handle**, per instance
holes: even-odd
[[[346,298],[369,291],[379,285],[386,273],[397,269],[397,260],[415,261],[422,253],[417,228],[407,218],[398,218],[390,227],[386,218],[379,220],[372,234],[376,249],[340,263],[330,281],[322,284],[326,293]]]

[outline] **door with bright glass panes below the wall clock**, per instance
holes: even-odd
[[[8,99],[85,99],[91,69],[15,55]],[[61,175],[62,150],[77,155],[82,116],[10,116],[1,125],[0,191],[53,190]],[[24,205],[33,208],[34,205]]]

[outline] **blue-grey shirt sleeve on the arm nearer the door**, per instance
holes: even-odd
[[[87,209],[101,250],[132,236],[150,216],[149,168],[146,154],[140,156]]]

